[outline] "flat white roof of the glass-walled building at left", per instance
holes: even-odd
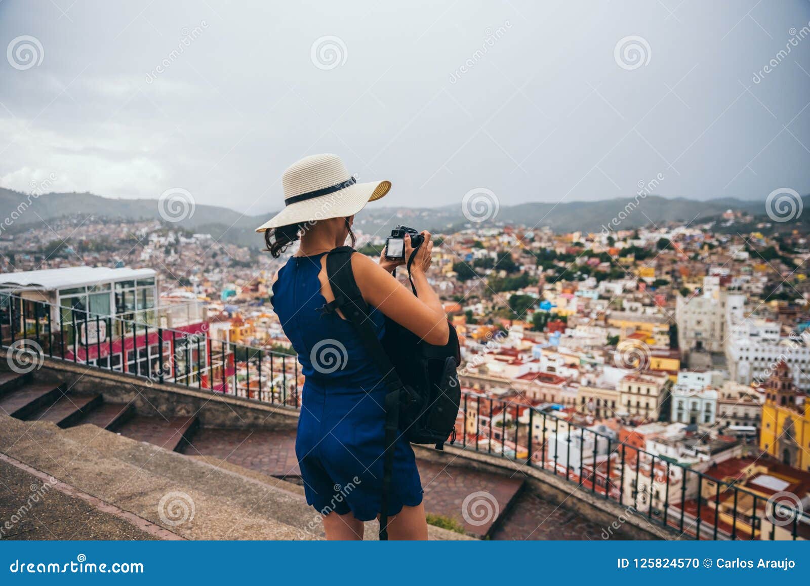
[[[106,266],[70,266],[63,269],[26,270],[0,274],[0,288],[53,291],[134,278],[154,278],[153,269],[110,269]]]

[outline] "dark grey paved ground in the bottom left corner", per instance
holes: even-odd
[[[11,529],[6,529],[6,523]],[[151,540],[156,537],[0,461],[0,538]]]

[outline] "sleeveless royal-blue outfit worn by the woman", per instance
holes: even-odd
[[[354,326],[337,313],[319,311],[323,254],[291,257],[273,285],[273,310],[292,342],[305,376],[296,456],[306,501],[326,515],[348,512],[373,520],[381,511],[387,388]],[[385,321],[371,318],[382,338]],[[411,444],[394,448],[388,515],[422,502],[422,486]]]

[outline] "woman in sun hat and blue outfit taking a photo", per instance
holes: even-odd
[[[352,223],[365,204],[390,189],[389,181],[357,183],[336,155],[313,155],[283,174],[284,208],[257,231],[279,257],[300,239],[276,275],[273,309],[298,353],[304,384],[296,456],[307,503],[323,518],[327,539],[362,539],[363,521],[381,513],[386,386],[354,326],[339,313],[323,312],[335,299],[326,278],[326,253],[355,244]],[[447,343],[449,325],[425,271],[433,243],[427,231],[411,277],[418,297],[392,273],[403,261],[378,262],[352,255],[352,272],[378,335],[389,317],[430,344]],[[413,248],[405,241],[406,258]],[[422,486],[411,445],[399,437],[388,499],[390,539],[427,539]]]

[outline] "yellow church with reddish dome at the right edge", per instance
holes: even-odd
[[[784,464],[810,470],[810,401],[797,404],[803,393],[795,388],[791,369],[783,360],[763,386],[760,448]]]

